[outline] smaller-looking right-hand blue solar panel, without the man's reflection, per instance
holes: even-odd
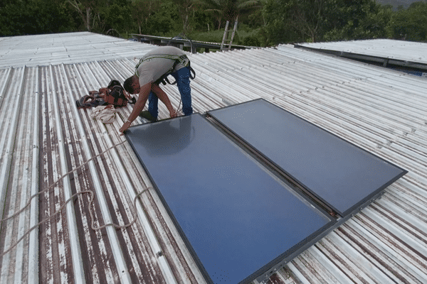
[[[263,99],[209,114],[342,216],[406,173]]]

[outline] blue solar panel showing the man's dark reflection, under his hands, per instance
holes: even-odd
[[[247,283],[334,224],[199,114],[126,136],[212,283]]]

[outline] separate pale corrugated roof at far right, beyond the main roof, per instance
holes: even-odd
[[[427,43],[404,40],[349,40],[329,43],[298,43],[305,48],[334,50],[343,53],[369,55],[427,64]]]

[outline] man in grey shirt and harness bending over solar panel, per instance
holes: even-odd
[[[172,75],[176,80],[179,93],[181,94],[182,111],[184,111],[184,114],[189,115],[193,113],[189,80],[191,68],[189,66],[189,59],[182,50],[173,46],[155,48],[139,60],[135,69],[135,75],[127,78],[123,87],[130,94],[139,93],[139,97],[129,118],[123,124],[122,128],[120,128],[120,132],[128,129],[132,121],[139,114],[142,114],[142,109],[144,109],[147,99],[149,100],[149,114],[142,114],[143,117],[151,121],[157,120],[157,103],[159,99],[169,110],[169,115],[171,117],[176,116],[176,111],[172,107],[169,97],[159,87],[159,83],[167,75]]]

